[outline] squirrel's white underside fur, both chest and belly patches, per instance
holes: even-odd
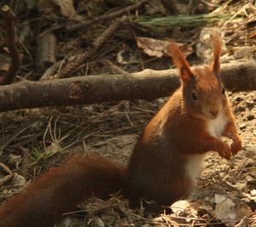
[[[221,113],[217,118],[209,120],[207,122],[207,131],[213,137],[220,138],[224,131],[224,127],[227,123],[227,117]],[[189,179],[191,179],[192,184],[196,184],[196,179],[200,176],[201,170],[203,168],[203,163],[206,155],[193,155],[189,156],[189,162],[186,165],[186,171],[188,173]]]

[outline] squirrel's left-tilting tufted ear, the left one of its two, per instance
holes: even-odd
[[[188,61],[185,59],[185,56],[181,52],[180,48],[177,47],[176,43],[170,44],[170,54],[173,62],[177,65],[183,83],[189,82],[191,77],[194,77],[194,75],[190,69]]]

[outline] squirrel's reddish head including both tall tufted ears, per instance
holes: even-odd
[[[219,76],[221,40],[218,33],[212,37],[213,60],[211,65],[191,69],[176,43],[170,45],[170,54],[177,65],[183,82],[183,99],[189,113],[194,116],[214,119],[227,105],[224,86]]]

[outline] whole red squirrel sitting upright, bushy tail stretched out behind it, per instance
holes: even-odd
[[[193,69],[172,43],[170,54],[182,85],[144,129],[128,167],[102,156],[75,155],[0,207],[0,226],[54,226],[84,198],[107,198],[119,190],[131,204],[144,198],[171,205],[195,185],[207,151],[226,159],[236,155],[241,138],[219,77],[218,35],[212,43],[212,64]],[[223,136],[232,139],[230,146]]]

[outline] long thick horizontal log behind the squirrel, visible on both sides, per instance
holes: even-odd
[[[222,65],[225,87],[256,89],[256,61]],[[180,86],[177,70],[144,70],[130,75],[70,77],[41,82],[19,82],[0,87],[0,111],[50,105],[93,104],[122,99],[156,99]]]

